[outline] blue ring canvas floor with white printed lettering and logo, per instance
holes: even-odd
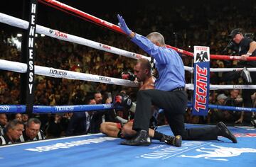
[[[207,125],[190,125],[200,127]],[[210,126],[210,125],[208,125]],[[1,166],[255,166],[256,129],[229,127],[238,144],[183,141],[181,147],[153,140],[150,146],[124,146],[122,139],[89,134],[0,147]],[[159,132],[170,134],[169,126]]]

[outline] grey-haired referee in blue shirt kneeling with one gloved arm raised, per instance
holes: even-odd
[[[164,109],[164,115],[174,135],[181,135],[185,140],[213,140],[218,136],[228,137],[236,143],[235,136],[223,122],[215,127],[185,129],[184,113],[187,107],[185,91],[184,65],[178,53],[166,48],[164,37],[160,33],[150,33],[146,38],[129,30],[122,16],[117,16],[120,28],[132,42],[147,52],[156,60],[159,78],[155,81],[155,89],[142,90],[137,93],[137,106],[134,116],[133,129],[137,136],[121,142],[131,146],[149,146],[151,139],[148,135],[151,105]]]

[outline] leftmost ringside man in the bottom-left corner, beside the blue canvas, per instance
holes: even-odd
[[[18,142],[19,137],[21,137],[23,132],[23,122],[21,120],[11,120],[6,125],[6,132],[3,136],[0,136],[0,144],[14,144]]]

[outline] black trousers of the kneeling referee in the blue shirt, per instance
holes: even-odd
[[[174,135],[181,135],[185,140],[213,140],[218,138],[216,127],[185,129],[186,91],[160,91],[156,89],[139,91],[134,115],[134,130],[149,130],[149,120],[152,115],[151,105],[164,110],[164,115]]]

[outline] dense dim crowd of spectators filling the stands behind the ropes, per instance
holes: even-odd
[[[193,52],[193,45],[202,45],[209,46],[211,54],[229,55],[235,53],[232,50],[223,50],[230,41],[228,38],[230,30],[233,28],[244,28],[247,33],[256,32],[256,3],[255,1],[250,1],[250,3],[249,5],[240,1],[240,3],[231,6],[210,1],[209,4],[198,4],[197,7],[193,8],[189,4],[160,7],[148,4],[142,10],[134,11],[135,13],[124,13],[123,15],[125,18],[130,17],[127,19],[127,24],[130,28],[142,35],[156,30],[166,37],[167,44],[183,50]],[[112,23],[117,22],[116,13],[106,13],[99,17]],[[134,18],[134,16],[137,17]],[[63,19],[59,19],[63,21],[51,20],[47,14],[46,17],[48,17],[48,27],[50,28],[55,28],[65,33],[80,35],[83,38],[90,38],[90,40],[95,40],[96,42],[145,55],[139,47],[135,46],[124,35],[102,28],[99,29],[93,25],[85,26],[85,21],[76,21],[71,16],[65,19],[66,23],[63,23]],[[3,26],[0,32],[1,59],[21,62],[21,50],[11,42],[11,38],[16,37],[18,32],[19,30],[9,31],[8,28]],[[181,57],[185,66],[192,66],[193,60],[191,57],[187,57],[186,55],[181,55]],[[211,60],[210,67],[232,67],[235,63],[235,61]],[[109,52],[95,50],[83,45],[38,35],[36,38],[35,64],[43,67],[121,78],[122,71],[132,71],[135,60]],[[221,77],[222,73],[210,73],[210,84],[230,84],[222,81]],[[21,103],[20,78],[21,76],[18,73],[0,71],[1,105]],[[192,79],[191,74],[186,72],[186,83],[191,83]],[[73,99],[78,93],[81,93],[82,97],[87,97],[92,93],[100,91],[103,100],[107,99],[106,94],[108,92],[114,95],[119,91],[125,90],[132,98],[136,95],[136,89],[134,88],[91,81],[74,81],[36,76],[35,83],[35,105],[72,105],[74,104]],[[242,80],[233,81],[232,84],[242,84]],[[191,99],[192,95],[193,93],[188,91],[189,99]],[[253,97],[254,99],[252,100],[255,101],[255,96]],[[240,90],[210,91],[210,103],[242,106]],[[126,114],[123,115],[125,116]],[[250,125],[250,120],[241,121],[240,116],[241,113],[237,112],[210,110],[208,117],[198,117],[191,115],[191,111],[188,110],[186,113],[186,122],[214,124],[221,120],[230,125],[235,125],[235,123]],[[46,138],[52,138],[65,136],[65,131],[68,129],[72,114],[0,114],[1,133],[4,133],[4,127],[8,122],[20,119],[18,117],[21,117],[21,122],[24,124],[28,121],[28,117],[38,118],[41,121],[43,134]],[[164,124],[166,122],[163,115],[159,115],[159,125]]]

